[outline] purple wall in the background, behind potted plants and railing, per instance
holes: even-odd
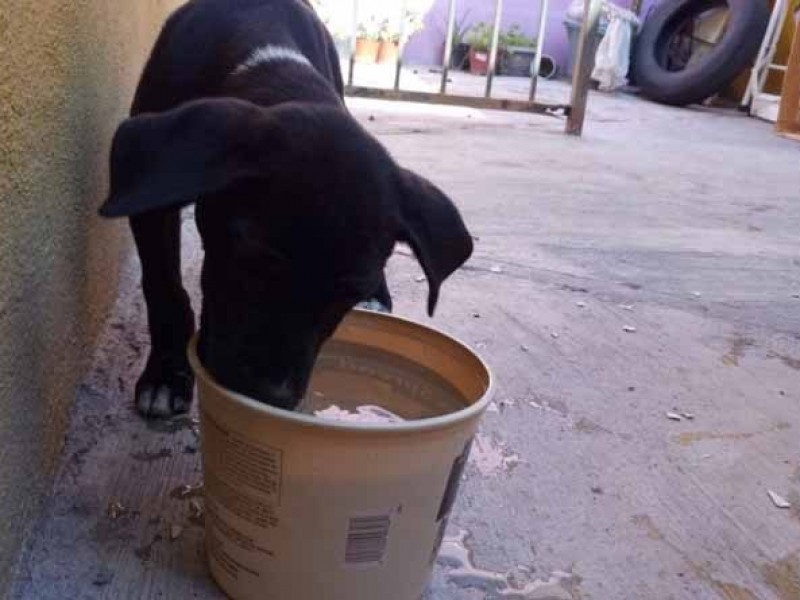
[[[646,0],[645,9],[658,0]],[[614,0],[616,4],[627,7],[631,0]],[[458,18],[468,15],[466,22],[476,24],[480,21],[494,21],[494,2],[491,0],[462,0],[458,3]],[[553,56],[559,69],[566,68],[569,46],[564,29],[564,15],[570,0],[551,0],[545,35],[545,53]],[[414,35],[406,48],[406,61],[416,64],[441,64],[444,39],[447,32],[447,11],[449,0],[435,0],[425,18],[425,29]],[[503,29],[519,24],[528,35],[534,35],[539,26],[539,2],[531,0],[505,0],[503,3]]]

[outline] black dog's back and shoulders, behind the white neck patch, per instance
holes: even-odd
[[[131,112],[217,96],[237,66],[266,46],[298,52],[341,95],[333,41],[306,0],[191,0],[164,26]]]

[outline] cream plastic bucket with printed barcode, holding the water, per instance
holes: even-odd
[[[235,600],[416,600],[439,551],[490,372],[453,338],[354,311],[310,389],[415,420],[348,423],[197,375],[211,573]]]

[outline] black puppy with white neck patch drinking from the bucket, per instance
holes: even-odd
[[[193,0],[169,19],[111,153],[107,217],[130,217],[152,349],[146,417],[186,412],[194,315],[180,208],[205,249],[199,356],[223,385],[294,408],[321,344],[361,301],[390,306],[396,242],[427,275],[429,312],[472,253],[452,202],[348,114],[333,41],[301,0]]]

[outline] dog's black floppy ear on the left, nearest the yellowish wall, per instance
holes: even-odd
[[[114,137],[111,193],[100,214],[129,217],[181,206],[264,176],[290,138],[274,111],[232,98],[128,119]]]

